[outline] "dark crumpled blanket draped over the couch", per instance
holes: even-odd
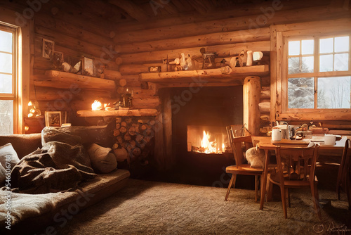
[[[81,144],[51,141],[13,167],[11,188],[20,193],[55,193],[76,189],[95,175]]]

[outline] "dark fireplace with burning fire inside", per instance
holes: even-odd
[[[171,170],[164,180],[213,186],[225,174],[225,167],[235,163],[225,127],[243,123],[243,87],[202,87],[191,96],[188,91],[189,87],[163,91],[170,97],[168,105],[171,104],[172,109],[171,151],[165,158],[173,158]],[[181,97],[186,99],[178,99]],[[216,151],[202,149],[204,132],[208,136],[206,141],[213,142]],[[225,174],[222,186],[229,179]]]

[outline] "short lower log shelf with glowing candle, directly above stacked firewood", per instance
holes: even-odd
[[[157,110],[153,108],[127,109],[127,110],[79,110],[79,117],[126,117],[126,116],[157,116]]]

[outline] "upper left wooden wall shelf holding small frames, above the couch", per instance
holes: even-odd
[[[34,85],[38,87],[54,87],[61,89],[96,89],[113,91],[115,84],[112,80],[105,80],[98,77],[77,75],[70,72],[57,70],[47,70],[40,80],[34,80]]]

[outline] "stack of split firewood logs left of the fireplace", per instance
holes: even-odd
[[[116,118],[113,151],[117,161],[128,165],[148,165],[148,157],[154,149],[154,118]]]

